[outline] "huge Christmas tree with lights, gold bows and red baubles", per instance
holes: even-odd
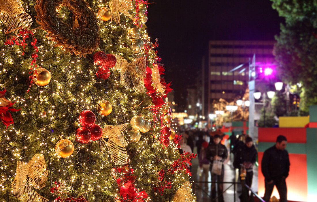
[[[141,0],[1,0],[0,201],[193,201]]]

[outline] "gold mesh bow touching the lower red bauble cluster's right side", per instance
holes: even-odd
[[[122,132],[126,129],[129,123],[121,125],[106,125],[102,129],[102,136],[100,138],[100,145],[102,149],[108,148],[111,159],[115,165],[127,164],[128,155],[126,146],[128,143],[122,136]],[[109,138],[106,142],[104,138]]]

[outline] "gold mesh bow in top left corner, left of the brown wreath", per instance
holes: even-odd
[[[0,18],[9,30],[17,35],[19,27],[29,29],[33,22],[31,16],[24,11],[19,0],[0,0]]]

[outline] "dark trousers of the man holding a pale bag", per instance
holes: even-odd
[[[211,174],[211,181],[218,182],[217,183],[217,192],[218,192],[218,202],[224,202],[223,200],[223,177],[224,177],[224,166],[222,165],[221,174],[216,175],[211,173],[212,164],[210,165],[210,174]],[[211,183],[211,198],[213,201],[216,200],[216,183]]]

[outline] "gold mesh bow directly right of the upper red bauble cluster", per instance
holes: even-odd
[[[113,68],[120,71],[120,84],[126,88],[130,88],[130,80],[132,80],[136,92],[145,92],[144,78],[146,78],[146,57],[138,57],[128,63],[126,59],[120,55],[114,56],[117,59],[117,63]]]

